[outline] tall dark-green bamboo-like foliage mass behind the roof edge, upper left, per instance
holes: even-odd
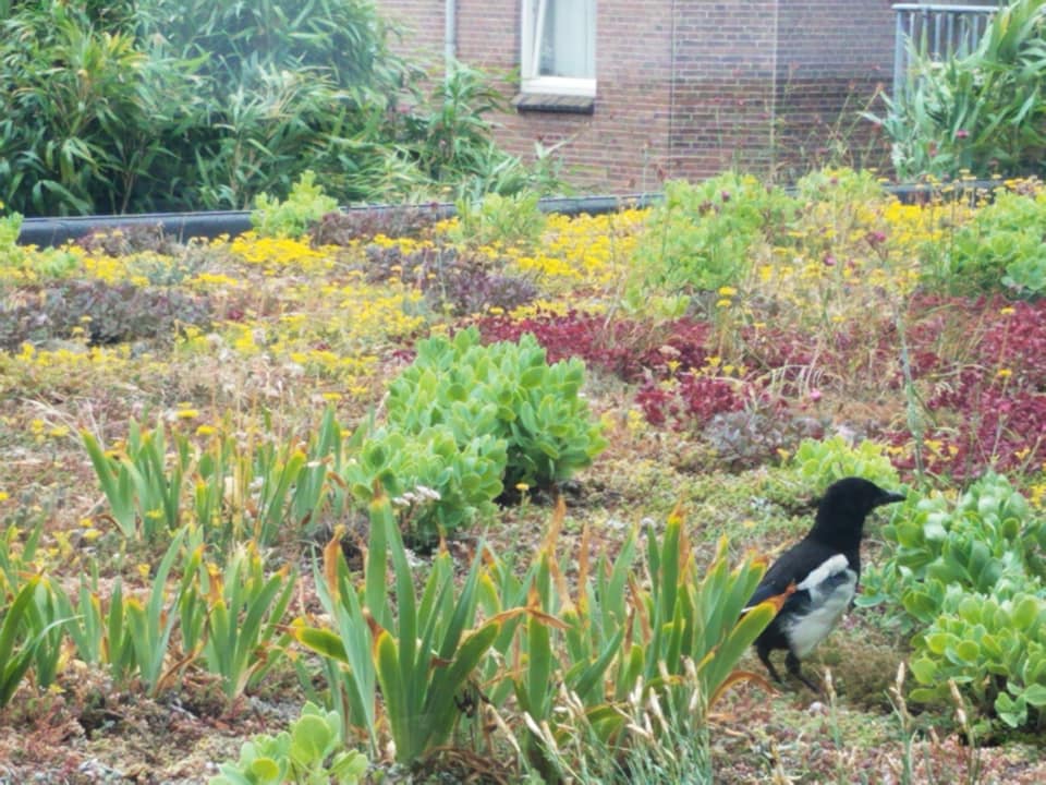
[[[424,94],[366,0],[7,3],[0,33],[0,201],[26,215],[242,209],[308,169],[342,204],[558,183],[494,144],[485,73]]]

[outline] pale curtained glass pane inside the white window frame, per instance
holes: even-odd
[[[593,0],[544,0],[539,76],[595,77]]]

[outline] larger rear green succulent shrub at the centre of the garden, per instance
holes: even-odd
[[[390,427],[409,434],[447,425],[462,447],[503,439],[503,484],[548,487],[588,466],[606,443],[581,397],[584,363],[549,365],[534,336],[481,346],[475,327],[429,338],[389,385]]]

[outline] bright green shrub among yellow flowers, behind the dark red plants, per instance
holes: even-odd
[[[715,291],[749,271],[752,249],[794,210],[779,189],[727,173],[700,185],[665,184],[635,250],[644,287]]]

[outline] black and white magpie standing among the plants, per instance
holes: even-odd
[[[781,554],[766,571],[749,607],[794,591],[770,625],[755,640],[755,651],[775,681],[780,681],[770,652],[784,649],[788,673],[810,687],[800,661],[823,641],[850,607],[861,578],[864,519],[876,507],[900,502],[902,494],[884,491],[861,478],[832,483],[817,504],[810,533]]]

